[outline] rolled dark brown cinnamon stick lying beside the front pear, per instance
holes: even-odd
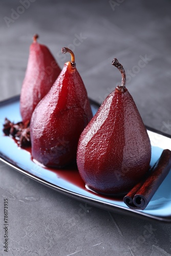
[[[132,209],[144,210],[171,168],[171,151],[163,150],[160,158],[149,170],[147,176],[135,185],[123,198]]]

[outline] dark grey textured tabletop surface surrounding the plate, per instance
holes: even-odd
[[[61,68],[70,57],[60,49],[74,50],[89,97],[99,103],[121,80],[111,65],[117,57],[144,123],[171,134],[169,0],[116,0],[113,8],[112,1],[32,2],[9,27],[4,17],[12,18],[11,9],[22,11],[21,4],[1,2],[0,100],[20,93],[32,36],[38,33]],[[0,255],[171,255],[170,224],[85,205],[4,164],[0,198]],[[4,198],[9,200],[8,253],[3,252]]]

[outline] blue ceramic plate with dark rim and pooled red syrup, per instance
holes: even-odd
[[[93,114],[95,114],[99,105],[91,100],[91,107]],[[94,206],[122,212],[127,215],[131,214],[171,222],[171,172],[160,185],[145,210],[130,209],[122,200],[101,196],[88,190],[81,180],[78,170],[73,166],[60,170],[37,165],[32,161],[29,149],[23,150],[19,148],[13,139],[3,135],[2,129],[5,117],[13,122],[22,120],[19,113],[19,96],[0,102],[0,113],[0,160],[2,162],[44,185]],[[147,131],[152,144],[151,165],[154,165],[163,149],[168,148],[171,150],[171,136],[166,136],[148,127]]]

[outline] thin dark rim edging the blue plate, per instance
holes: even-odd
[[[11,97],[11,98],[8,98],[8,99],[5,99],[5,100],[2,100],[0,101],[0,107],[1,106],[4,106],[4,105],[7,105],[9,103],[13,103],[15,101],[18,101],[20,98],[20,95],[16,95],[14,97]],[[97,103],[95,100],[89,98],[90,100],[90,103],[97,106],[98,108],[100,107],[100,104]],[[161,131],[158,131],[157,129],[154,129],[150,126],[147,126],[145,125],[146,129],[151,131],[151,132],[154,132],[154,133],[157,133],[157,134],[160,134],[164,137],[168,137],[171,139],[171,136],[168,135],[168,134],[165,134]],[[166,217],[160,217],[160,216],[154,216],[154,215],[149,215],[149,214],[146,214],[145,212],[143,211],[139,211],[137,209],[131,209],[131,208],[125,208],[123,206],[120,206],[120,205],[115,205],[115,204],[111,204],[109,202],[102,202],[98,199],[95,199],[95,198],[91,198],[91,197],[88,197],[88,196],[84,196],[84,195],[80,195],[78,193],[75,193],[74,191],[70,191],[66,188],[62,188],[60,186],[57,186],[51,182],[48,182],[42,178],[39,178],[31,173],[29,173],[27,170],[15,165],[14,163],[10,162],[8,160],[8,158],[2,154],[0,152],[0,161],[7,164],[8,166],[12,167],[13,169],[17,170],[17,172],[19,173],[22,173],[23,175],[25,176],[28,176],[29,178],[43,184],[43,185],[46,185],[47,187],[50,187],[56,191],[58,191],[59,193],[63,194],[63,195],[66,195],[66,196],[70,196],[76,200],[79,200],[79,201],[83,201],[83,202],[86,202],[90,205],[94,205],[95,207],[98,207],[98,208],[102,208],[104,210],[108,210],[108,211],[112,211],[112,212],[119,212],[119,213],[124,213],[126,215],[130,215],[130,216],[135,216],[135,217],[140,217],[140,218],[146,218],[146,219],[151,219],[151,220],[154,220],[154,221],[162,221],[162,222],[165,222],[165,223],[170,223],[171,222],[171,215],[169,216],[166,216]]]

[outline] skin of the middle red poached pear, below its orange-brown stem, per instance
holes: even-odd
[[[76,161],[79,136],[91,118],[86,88],[76,68],[67,62],[33,112],[30,124],[33,158],[53,167]]]

